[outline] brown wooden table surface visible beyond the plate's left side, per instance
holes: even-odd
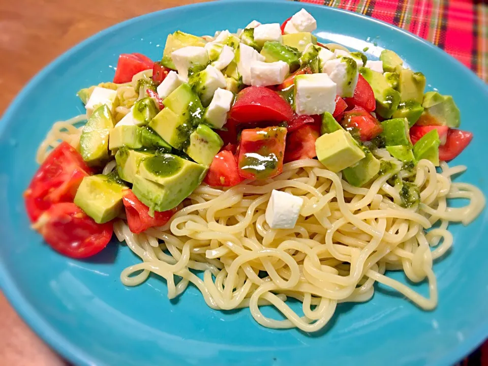
[[[120,21],[205,0],[0,1],[0,115],[41,68],[83,39]],[[64,365],[0,293],[0,365]]]

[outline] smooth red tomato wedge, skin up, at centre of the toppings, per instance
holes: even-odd
[[[229,116],[241,124],[260,121],[288,123],[293,117],[293,109],[273,90],[264,86],[248,86],[237,94]]]

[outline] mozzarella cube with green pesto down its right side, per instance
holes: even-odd
[[[325,63],[325,72],[337,84],[337,94],[343,98],[354,95],[357,78],[359,76],[356,62],[350,57],[341,57],[328,60]]]

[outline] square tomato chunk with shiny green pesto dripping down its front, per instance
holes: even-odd
[[[287,130],[284,127],[243,130],[237,167],[248,179],[272,178],[283,171]]]

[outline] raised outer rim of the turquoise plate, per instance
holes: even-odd
[[[234,2],[234,3],[246,3],[246,0],[221,0],[227,3]],[[191,4],[185,6],[179,6],[170,9],[164,9],[160,11],[156,11],[153,13],[143,14],[134,18],[130,18],[123,22],[119,22],[115,25],[112,25],[108,28],[103,29],[102,31],[96,33],[93,36],[81,41],[74,47],[68,49],[58,57],[56,57],[51,63],[45,66],[41,71],[39,71],[28,83],[20,90],[14,100],[11,102],[9,107],[6,109],[2,118],[0,119],[0,134],[3,133],[5,127],[7,126],[6,121],[12,118],[12,115],[20,105],[21,100],[28,96],[34,86],[41,80],[46,74],[56,69],[56,67],[64,62],[65,59],[70,57],[73,53],[83,49],[86,45],[92,43],[93,41],[98,40],[99,38],[104,37],[107,34],[116,32],[119,28],[127,26],[133,22],[136,22],[141,19],[151,18],[151,17],[159,17],[161,14],[169,15],[173,12],[181,11],[181,9],[186,8],[204,8],[207,4],[216,3],[216,1],[207,2],[207,3],[198,3],[198,4]],[[260,3],[275,3],[277,5],[283,4],[284,0],[261,0]],[[315,5],[304,3],[304,5],[309,8],[316,8],[316,9],[324,9],[322,5]],[[396,32],[400,32],[403,36],[409,37],[414,39],[417,42],[422,43],[424,46],[428,46],[432,52],[436,52],[445,59],[445,62],[449,62],[454,64],[456,68],[463,72],[466,76],[469,77],[469,83],[476,83],[481,88],[485,88],[488,92],[488,86],[481,80],[472,70],[467,68],[463,65],[459,60],[455,59],[448,53],[444,52],[437,46],[433,45],[432,43],[425,41],[416,35],[402,29],[400,27],[394,26],[392,24],[386,23],[382,20],[375,19],[369,16],[365,16],[363,14],[354,13],[351,11],[337,9],[332,7],[325,7],[327,11],[332,13],[346,13],[352,17],[358,17],[362,19],[367,19],[368,21],[379,23],[383,26],[386,26],[390,29],[393,29]],[[67,338],[64,338],[60,335],[55,328],[53,328],[48,322],[46,322],[42,316],[32,307],[32,305],[24,298],[21,294],[19,289],[14,285],[9,272],[3,265],[0,265],[0,288],[4,292],[4,295],[7,297],[11,305],[14,307],[16,312],[21,316],[21,318],[28,324],[28,326],[33,329],[39,337],[41,337],[50,347],[56,350],[60,355],[64,358],[76,363],[76,364],[83,364],[83,365],[92,365],[98,364],[100,360],[96,359],[95,357],[91,356],[85,350],[73,345]],[[446,353],[445,356],[441,359],[438,359],[436,362],[432,363],[434,365],[445,365],[449,363],[454,363],[457,360],[460,360],[465,355],[467,355],[470,351],[475,349],[479,346],[488,335],[488,319],[484,319],[480,322],[480,325],[475,329],[469,338],[467,338],[464,342],[460,343],[458,346],[454,347],[450,352]],[[102,362],[103,363],[103,362]]]

